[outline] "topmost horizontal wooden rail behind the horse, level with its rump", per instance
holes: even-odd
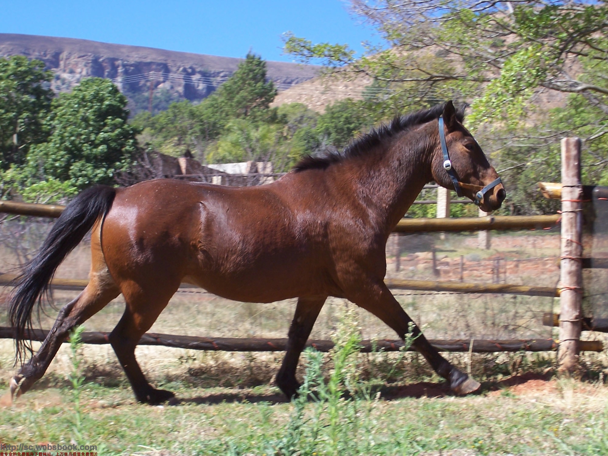
[[[0,201],[0,212],[55,217],[61,215],[65,206],[55,204],[32,204],[29,202]],[[556,215],[497,215],[461,218],[404,218],[395,227],[397,233],[527,230],[552,228],[558,223]]]

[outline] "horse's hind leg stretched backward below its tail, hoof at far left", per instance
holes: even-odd
[[[55,358],[59,347],[69,336],[69,332],[100,311],[119,293],[118,287],[112,282],[111,278],[103,275],[92,275],[91,281],[84,291],[72,302],[61,308],[55,324],[47,334],[40,349],[11,379],[11,396],[15,392],[20,396],[29,390],[34,382],[44,375],[50,362]]]

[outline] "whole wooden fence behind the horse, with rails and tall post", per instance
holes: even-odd
[[[562,179],[569,182],[568,188],[576,188],[582,195],[580,184],[580,142],[568,139],[562,142]],[[578,174],[577,174],[578,173]],[[578,176],[578,181],[576,180]],[[577,183],[578,182],[578,183]],[[548,192],[549,190],[547,190]],[[557,190],[551,188],[551,195],[556,195]],[[500,293],[500,294],[519,294],[531,296],[562,297],[564,292],[568,294],[568,305],[562,305],[562,316],[557,317],[560,325],[560,338],[562,342],[554,340],[431,340],[430,342],[440,351],[474,351],[475,353],[492,353],[497,351],[549,351],[560,348],[561,366],[567,370],[573,370],[575,365],[573,359],[579,351],[603,351],[600,341],[581,341],[580,331],[583,329],[601,330],[599,326],[592,325],[582,327],[582,316],[580,309],[579,295],[581,285],[578,282],[578,275],[581,274],[582,263],[581,252],[570,252],[572,245],[580,237],[579,227],[581,226],[580,210],[577,204],[581,203],[581,195],[574,195],[562,215],[539,215],[539,216],[484,216],[471,218],[438,218],[438,219],[402,219],[395,228],[395,232],[414,233],[414,232],[462,232],[462,231],[486,231],[486,230],[522,230],[522,229],[549,229],[556,226],[562,219],[562,276],[561,288],[549,288],[542,286],[524,286],[512,284],[491,284],[482,285],[478,283],[458,283],[458,282],[435,282],[424,280],[387,280],[385,283],[389,288],[408,289],[417,291],[449,291],[457,293]],[[560,196],[561,197],[561,190]],[[63,212],[64,206],[27,204],[12,201],[0,201],[0,212],[13,213],[30,216],[58,217]],[[567,219],[567,229],[564,235],[564,219]],[[571,220],[572,219],[572,220]],[[568,241],[564,243],[564,237]],[[568,250],[570,249],[570,250]],[[566,255],[564,252],[570,252]],[[568,261],[570,260],[570,261]],[[566,261],[566,263],[564,263]],[[565,272],[566,271],[566,272]],[[0,286],[10,286],[13,275],[0,275]],[[564,285],[570,284],[573,285]],[[86,280],[69,280],[55,278],[51,285],[58,289],[83,289],[87,284]],[[578,306],[578,307],[577,307]],[[567,317],[564,315],[567,314]],[[554,317],[550,319],[553,325]],[[547,324],[545,322],[545,324]],[[578,333],[577,333],[578,328]],[[30,336],[33,340],[43,340],[46,332],[42,330],[33,331]],[[562,337],[562,334],[568,337]],[[12,328],[0,327],[0,338],[12,338]],[[195,350],[226,350],[226,351],[283,351],[286,347],[287,339],[235,339],[235,338],[210,338],[179,336],[174,334],[144,334],[140,340],[140,345],[164,345],[167,347],[192,348]],[[83,341],[88,344],[107,344],[108,333],[85,333]],[[308,344],[316,347],[317,350],[327,351],[333,347],[330,340],[309,340]],[[363,351],[371,351],[375,347],[377,350],[399,350],[401,340],[364,340]]]

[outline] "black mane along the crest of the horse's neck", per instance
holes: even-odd
[[[316,156],[305,156],[295,165],[294,171],[325,169],[331,164],[342,162],[351,157],[362,156],[385,139],[395,136],[407,128],[439,119],[439,116],[443,114],[444,106],[445,103],[442,103],[429,109],[421,109],[407,116],[396,116],[388,125],[382,123],[377,128],[372,128],[369,133],[357,137],[342,151],[326,151]],[[456,111],[456,116],[460,122],[465,119],[465,107],[463,106],[463,108]]]

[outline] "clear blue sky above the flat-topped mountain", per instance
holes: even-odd
[[[0,0],[2,33],[65,36],[198,54],[244,57],[249,49],[265,60],[282,55],[290,30],[317,43],[378,42],[374,30],[340,0]]]

